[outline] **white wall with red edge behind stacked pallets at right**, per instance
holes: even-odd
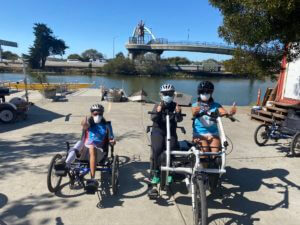
[[[300,58],[288,63],[284,57],[282,68],[275,100],[287,104],[300,104]]]

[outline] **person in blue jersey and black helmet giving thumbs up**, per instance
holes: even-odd
[[[198,101],[192,105],[193,122],[193,142],[202,146],[206,152],[218,152],[220,150],[220,138],[218,126],[209,114],[218,111],[220,116],[234,115],[236,113],[235,104],[228,113],[219,103],[215,102],[212,94],[214,85],[210,81],[202,81],[198,85]],[[199,113],[205,112],[206,115],[197,117]]]

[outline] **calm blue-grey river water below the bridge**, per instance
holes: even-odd
[[[28,75],[30,82],[38,82],[41,79],[49,83],[79,82],[93,83],[92,88],[98,88],[104,85],[108,88],[123,88],[127,95],[143,88],[148,97],[153,100],[159,99],[159,87],[164,83],[171,83],[177,91],[184,92],[197,97],[197,85],[200,81],[210,80],[215,85],[213,97],[215,101],[223,105],[231,105],[233,101],[237,105],[245,106],[256,101],[257,91],[260,88],[262,94],[268,87],[274,87],[275,83],[266,80],[254,80],[245,78],[224,78],[224,77],[196,77],[196,78],[172,78],[169,77],[137,77],[137,76],[87,76],[87,75],[46,75],[37,78]],[[23,74],[0,73],[1,81],[21,81]]]

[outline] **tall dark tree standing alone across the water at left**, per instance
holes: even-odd
[[[29,66],[33,69],[43,69],[48,56],[63,55],[68,46],[62,39],[57,39],[46,24],[35,23],[33,30],[35,40],[29,48]]]

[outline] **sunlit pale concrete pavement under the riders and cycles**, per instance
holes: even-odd
[[[14,95],[22,95],[16,93]],[[192,224],[191,200],[182,184],[172,186],[173,196],[159,201],[147,197],[149,137],[147,111],[153,105],[107,103],[105,117],[112,121],[121,156],[117,196],[104,182],[100,195],[70,190],[66,178],[56,195],[47,190],[47,168],[53,155],[65,150],[65,141],[80,137],[80,121],[91,104],[99,102],[97,90],[82,90],[65,101],[51,102],[31,91],[35,105],[27,121],[0,124],[0,224]],[[13,96],[11,96],[13,97]],[[190,139],[190,109],[182,125]],[[224,126],[233,145],[220,194],[208,194],[210,224],[300,224],[299,158],[286,157],[288,144],[253,141],[257,123],[247,107],[238,109],[241,121]],[[100,176],[99,174],[97,175]],[[105,180],[105,179],[104,179]],[[222,195],[221,195],[222,193]]]

